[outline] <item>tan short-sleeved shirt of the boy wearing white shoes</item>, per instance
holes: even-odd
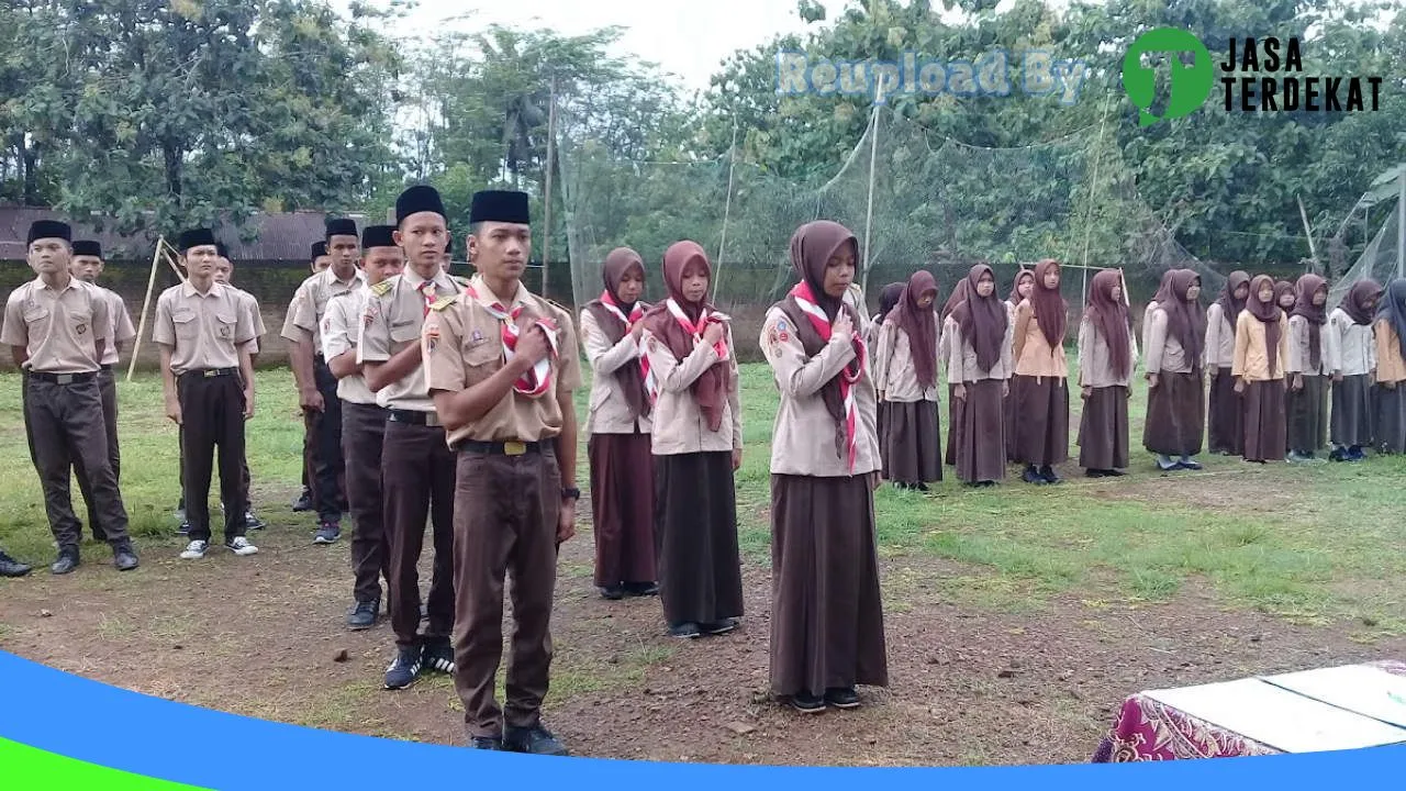
[[[201,294],[188,280],[162,291],[156,300],[152,341],[172,346],[172,373],[239,367],[239,346],[253,341],[254,328],[239,296],[212,283]]]

